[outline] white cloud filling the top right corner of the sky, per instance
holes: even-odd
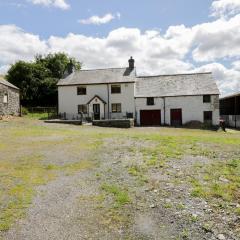
[[[240,12],[239,0],[215,0],[211,6],[211,16],[229,17]]]

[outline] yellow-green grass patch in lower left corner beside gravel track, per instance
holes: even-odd
[[[56,176],[42,164],[42,156],[31,155],[16,162],[0,162],[0,231],[6,231],[24,216],[34,195],[34,187],[46,184]]]

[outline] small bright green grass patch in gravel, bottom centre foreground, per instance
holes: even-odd
[[[106,193],[112,194],[114,196],[115,201],[114,207],[116,208],[122,207],[131,202],[128,192],[122,190],[120,187],[116,185],[103,184],[101,188]]]

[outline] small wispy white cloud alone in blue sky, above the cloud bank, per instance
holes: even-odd
[[[102,25],[102,24],[106,24],[106,23],[111,22],[115,18],[120,19],[121,18],[121,14],[120,13],[116,13],[116,15],[113,15],[112,13],[107,13],[107,14],[105,14],[102,17],[95,15],[95,16],[92,16],[92,17],[90,17],[88,19],[78,20],[78,22],[81,23],[81,24]]]

